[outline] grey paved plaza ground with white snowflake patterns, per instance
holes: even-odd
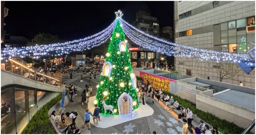
[[[85,84],[89,84],[89,75],[85,72],[82,73],[83,75],[83,82],[80,82],[80,74],[77,72],[73,72],[73,78],[67,79],[68,74],[64,74],[63,82],[67,85],[75,84],[79,87],[78,94],[73,98],[74,102],[67,104],[65,107],[65,112],[72,112],[76,111],[79,113],[78,118],[76,119],[76,125],[81,130],[82,134],[88,134],[89,130],[87,127],[82,128],[83,119],[85,109],[87,105],[81,105],[81,92],[85,87]],[[99,78],[99,74],[98,78]],[[99,80],[92,81],[92,88],[93,94],[92,96],[96,95],[97,89],[96,85],[98,85]],[[151,116],[138,118],[132,121],[128,121],[122,124],[118,124],[115,126],[111,126],[108,128],[99,128],[93,126],[91,124],[90,132],[91,134],[152,134],[153,131],[156,131],[157,134],[181,134],[183,124],[178,122],[174,116],[169,114],[166,109],[163,109],[163,106],[154,101],[154,105],[151,104],[152,99],[149,97],[145,97],[145,101],[152,109],[154,109],[154,113]],[[92,101],[90,101],[92,102]],[[94,110],[90,110],[92,113]],[[69,118],[67,118],[69,119]],[[100,123],[100,121],[99,121]],[[88,126],[88,125],[87,125]]]

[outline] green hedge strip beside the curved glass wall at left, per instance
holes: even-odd
[[[66,95],[67,93],[68,91],[66,90]],[[62,94],[53,98],[38,112],[36,112],[32,119],[29,121],[29,124],[23,130],[22,134],[57,134],[49,119],[48,111],[61,99]]]

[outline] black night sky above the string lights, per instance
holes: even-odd
[[[9,9],[4,20],[7,34],[29,39],[39,32],[58,35],[62,40],[93,35],[115,20],[118,9],[129,23],[136,19],[138,10],[144,10],[158,18],[160,27],[173,26],[173,1],[6,1],[5,7]]]

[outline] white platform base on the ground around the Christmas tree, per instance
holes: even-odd
[[[94,111],[94,103],[93,101],[96,99],[96,96],[90,97],[89,98],[89,103],[88,103],[88,109],[91,110],[91,112],[93,113]],[[100,128],[108,128],[111,126],[115,126],[118,124],[122,124],[124,122],[127,121],[132,121],[134,119],[137,118],[143,118],[146,116],[150,116],[153,115],[154,110],[148,106],[146,103],[145,105],[143,105],[142,103],[140,103],[139,107],[137,109],[135,109],[138,112],[138,115],[131,117],[130,114],[126,114],[126,115],[122,115],[122,116],[104,116],[101,115],[101,113],[99,114],[100,117],[102,118],[102,121],[99,122],[98,126],[96,127],[100,127]],[[90,123],[93,124],[93,117],[90,116]]]

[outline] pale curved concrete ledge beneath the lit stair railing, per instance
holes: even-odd
[[[5,71],[1,69],[1,87],[8,86],[12,84],[17,84],[21,86],[28,86],[36,89],[47,90],[51,92],[62,92],[65,90],[65,86],[62,85],[61,87],[52,86],[46,83],[40,83],[35,80],[31,80],[29,78],[23,78],[20,75],[16,75],[14,73]]]

